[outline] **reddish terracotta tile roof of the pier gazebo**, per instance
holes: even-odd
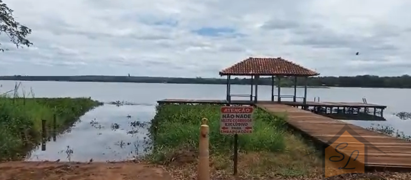
[[[315,71],[289,62],[281,57],[254,58],[249,57],[219,72],[219,75],[286,75],[315,76]]]

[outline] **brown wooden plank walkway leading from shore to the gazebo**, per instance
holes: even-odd
[[[257,103],[255,106],[271,113],[286,112],[286,121],[289,125],[300,130],[312,139],[321,141],[327,145],[330,145],[330,140],[335,137],[342,128],[348,125],[353,131],[366,140],[363,144],[374,146],[383,151],[381,152],[370,147],[367,148],[367,154],[365,154],[365,159],[367,160],[363,162],[367,168],[382,168],[387,170],[402,169],[401,171],[404,171],[404,169],[408,171],[411,170],[411,142],[372,132],[356,125],[314,114],[289,105]],[[346,140],[346,138],[343,139]],[[361,146],[358,142],[356,144]],[[344,150],[339,151],[342,151],[348,157],[352,150],[350,150],[350,152],[344,152]]]

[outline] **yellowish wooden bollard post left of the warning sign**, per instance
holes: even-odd
[[[201,119],[199,141],[199,167],[197,180],[210,180],[210,161],[208,157],[208,119]]]

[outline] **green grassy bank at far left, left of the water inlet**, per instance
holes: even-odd
[[[41,141],[42,120],[65,129],[99,102],[89,98],[0,97],[0,160],[20,159]]]

